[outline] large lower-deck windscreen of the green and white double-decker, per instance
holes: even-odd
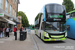
[[[65,22],[46,22],[45,30],[48,32],[51,30],[52,33],[64,32],[66,30]]]

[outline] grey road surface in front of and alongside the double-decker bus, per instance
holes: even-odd
[[[34,30],[31,31],[31,35],[35,40],[38,50],[75,50],[75,40],[68,39],[66,41],[57,41],[57,42],[43,42],[38,38]]]

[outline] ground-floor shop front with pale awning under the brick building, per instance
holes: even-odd
[[[6,17],[7,16],[5,15],[4,17],[0,17],[0,28],[6,28],[8,26],[10,28],[10,32],[12,32],[16,23],[13,22],[13,20],[10,20],[10,18]]]

